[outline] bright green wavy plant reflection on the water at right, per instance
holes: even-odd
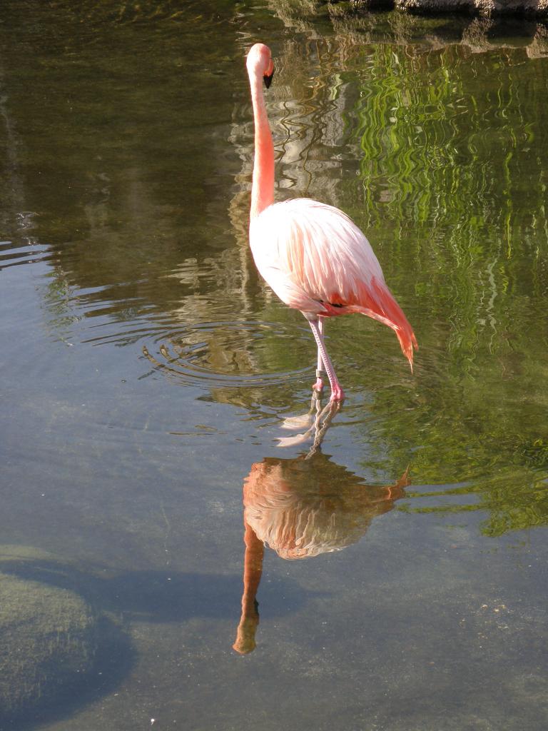
[[[545,524],[547,63],[454,45],[369,61],[347,114],[362,219],[422,344],[415,388],[378,390],[373,410],[395,463],[419,435],[413,482],[473,496],[408,509],[488,511],[490,535]]]

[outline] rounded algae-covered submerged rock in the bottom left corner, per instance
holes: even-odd
[[[80,596],[0,573],[0,721],[55,702],[95,651],[96,619]]]

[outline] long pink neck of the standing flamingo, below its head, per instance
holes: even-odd
[[[251,218],[274,202],[274,145],[268,124],[262,76],[250,74],[251,102],[255,120],[255,159],[251,186]]]

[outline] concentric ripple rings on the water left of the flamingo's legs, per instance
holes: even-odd
[[[257,387],[297,380],[310,371],[288,369],[309,333],[297,325],[256,321],[199,322],[142,346],[155,368],[186,384]],[[306,362],[306,361],[305,361]]]

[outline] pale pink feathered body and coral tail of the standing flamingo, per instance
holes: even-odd
[[[274,203],[251,220],[256,268],[305,317],[360,312],[395,330],[411,367],[416,340],[371,245],[346,213],[309,198]]]

